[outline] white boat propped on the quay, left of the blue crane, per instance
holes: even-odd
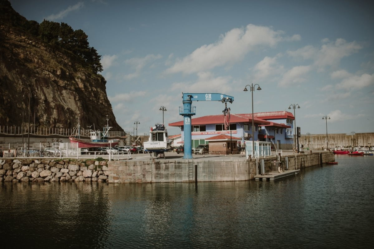
[[[171,140],[168,138],[168,131],[163,124],[156,124],[151,127],[149,139],[143,143],[144,149],[154,152],[156,155],[163,155],[170,150]]]

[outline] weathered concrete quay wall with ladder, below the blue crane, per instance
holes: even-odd
[[[108,162],[108,183],[162,183],[245,181],[261,178],[275,180],[276,176],[296,174],[300,169],[334,161],[332,151],[302,154],[282,153],[263,158],[247,159],[237,155],[195,155],[183,159],[179,155],[149,158],[143,155],[133,160]],[[270,177],[269,177],[270,176]],[[274,176],[274,177],[272,177]]]

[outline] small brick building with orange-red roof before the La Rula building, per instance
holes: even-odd
[[[213,155],[239,154],[240,152],[237,148],[237,141],[240,140],[241,138],[225,134],[220,134],[205,139],[206,142],[209,142],[209,154]]]

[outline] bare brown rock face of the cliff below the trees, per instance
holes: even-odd
[[[14,23],[28,22],[0,0],[0,125],[30,122],[42,127],[85,128],[117,124],[105,79],[64,50],[51,48]],[[14,20],[18,21],[14,21]]]

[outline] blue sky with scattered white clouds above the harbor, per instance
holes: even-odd
[[[369,2],[10,0],[28,20],[88,35],[116,121],[138,135],[163,118],[182,120],[182,92],[230,95],[231,113],[251,113],[252,92],[243,91],[251,84],[261,87],[255,113],[291,111],[302,134],[374,132]],[[192,119],[224,109],[218,101],[192,105]]]

